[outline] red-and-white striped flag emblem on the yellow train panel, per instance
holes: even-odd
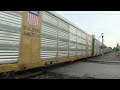
[[[39,11],[29,11],[27,22],[29,25],[37,26],[39,21]]]

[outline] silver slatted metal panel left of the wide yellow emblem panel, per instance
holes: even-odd
[[[17,62],[21,22],[20,12],[0,12],[0,64]]]

